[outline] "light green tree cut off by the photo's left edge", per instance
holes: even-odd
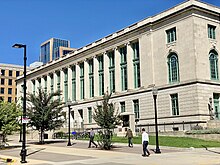
[[[15,103],[0,101],[0,131],[3,142],[6,142],[7,135],[20,129],[19,116],[21,116],[21,109]]]

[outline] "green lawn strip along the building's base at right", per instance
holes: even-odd
[[[150,145],[155,145],[155,136],[149,137]],[[116,137],[112,139],[113,142],[118,143],[127,143],[128,140],[125,137]],[[133,138],[134,144],[141,144],[141,137]],[[169,146],[169,147],[180,147],[180,148],[203,148],[203,147],[220,147],[219,141],[206,141],[196,138],[188,137],[170,137],[170,136],[159,136],[159,145],[160,146]]]

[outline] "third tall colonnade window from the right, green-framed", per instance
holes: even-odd
[[[110,92],[115,92],[115,53],[108,52],[109,57],[109,84]]]

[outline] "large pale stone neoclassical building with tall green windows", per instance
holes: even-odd
[[[185,1],[28,72],[27,90],[60,89],[64,102],[77,101],[71,129],[97,127],[92,113],[108,90],[125,120],[117,131],[154,131],[155,86],[160,131],[206,127],[210,114],[220,119],[219,16],[218,7]]]

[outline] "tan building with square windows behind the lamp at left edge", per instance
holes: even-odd
[[[0,100],[17,101],[16,79],[23,74],[23,67],[12,64],[0,64]]]

